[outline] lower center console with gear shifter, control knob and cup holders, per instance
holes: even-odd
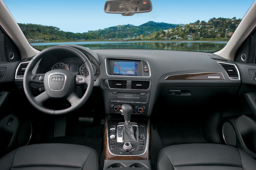
[[[151,169],[150,121],[130,119],[132,107],[124,104],[124,119],[107,119],[104,133],[104,170],[117,167]]]

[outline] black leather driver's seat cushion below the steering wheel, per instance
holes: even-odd
[[[95,150],[73,144],[35,144],[0,159],[1,170],[98,170]]]

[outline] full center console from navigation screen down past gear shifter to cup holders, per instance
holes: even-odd
[[[105,66],[107,78],[100,79],[108,115],[103,169],[151,169],[150,121],[147,119],[151,97],[149,64],[141,59],[108,57]],[[124,115],[124,119],[120,115]],[[136,115],[142,119],[136,119]]]

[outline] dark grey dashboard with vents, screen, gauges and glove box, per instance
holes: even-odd
[[[221,103],[230,99],[241,84],[236,64],[212,53],[72,47],[91,61],[94,88],[103,94],[106,115],[121,114],[122,104],[129,104],[132,114],[150,116],[159,99],[164,101],[161,108]],[[26,62],[29,60],[22,61],[17,70]],[[45,57],[34,72],[53,69],[88,75],[82,60],[70,54]],[[16,71],[15,82],[22,82],[17,76]]]

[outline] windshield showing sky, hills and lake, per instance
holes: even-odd
[[[61,44],[90,49],[161,49],[214,52],[223,48],[253,0],[152,0],[153,10],[109,14],[105,0],[4,0],[29,43],[40,50]]]

